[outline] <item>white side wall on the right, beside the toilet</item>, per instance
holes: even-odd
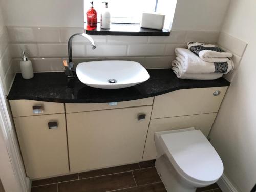
[[[248,42],[210,134],[224,173],[238,191],[256,182],[255,0],[232,0],[222,31]]]

